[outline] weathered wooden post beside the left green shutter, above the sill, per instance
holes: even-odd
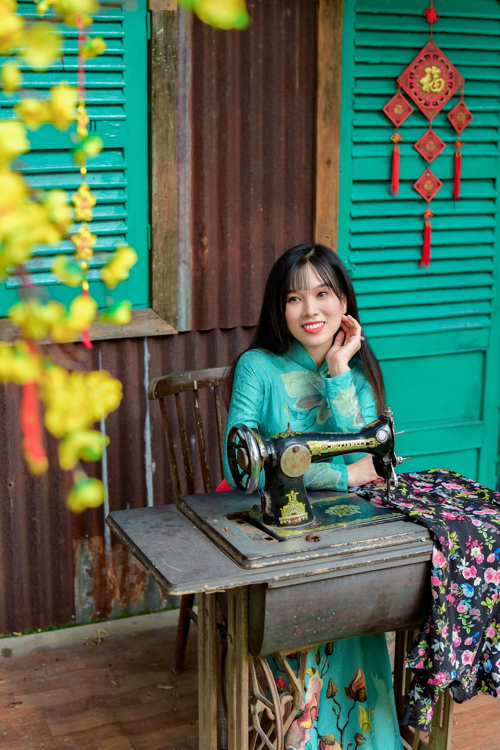
[[[177,329],[177,20],[171,0],[151,10],[151,274],[153,310]],[[133,206],[131,207],[133,211]]]

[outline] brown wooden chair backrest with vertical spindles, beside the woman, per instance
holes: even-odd
[[[175,494],[175,501],[179,502],[183,492],[183,486],[186,486],[188,494],[195,493],[197,484],[199,484],[199,478],[203,481],[203,487],[205,492],[212,492],[213,487],[217,483],[215,477],[210,476],[210,466],[213,466],[213,455],[210,450],[210,460],[207,454],[207,443],[205,439],[205,431],[208,430],[210,436],[209,448],[216,445],[219,453],[219,469],[220,478],[224,476],[223,470],[223,449],[224,449],[224,420],[222,416],[222,404],[219,386],[225,382],[225,377],[228,373],[228,368],[212,368],[210,370],[197,370],[189,371],[185,373],[177,373],[166,375],[164,377],[158,377],[150,381],[149,388],[147,390],[147,397],[150,400],[158,400],[160,410],[162,413],[163,432],[165,434],[165,443],[167,444],[168,462],[171,469],[171,478],[173,484],[173,490]],[[213,401],[205,401],[204,397],[200,395],[202,389],[213,390]],[[192,392],[193,401],[191,402],[188,398],[187,402],[184,402],[186,412],[183,411],[183,403],[181,394]],[[179,440],[177,440],[177,434],[175,434],[174,419],[172,419],[172,413],[170,407],[166,403],[167,397],[174,396],[175,406],[177,410],[177,425],[179,429]],[[193,404],[194,413],[191,412],[190,404]],[[203,404],[203,408],[201,407]],[[173,407],[173,404],[172,404]],[[215,409],[215,419],[214,417]],[[168,414],[171,415],[171,422],[168,421]],[[186,414],[186,418],[185,418]],[[210,423],[204,424],[204,416],[210,415]],[[193,419],[195,425],[193,425]],[[186,427],[189,427],[189,431],[195,430],[196,442],[198,443],[198,455],[199,455],[199,466],[198,460],[193,455],[194,445],[192,441],[194,437],[189,439]],[[215,431],[217,431],[217,440],[213,440],[215,437]],[[183,456],[183,472],[180,470],[180,455],[179,447]],[[176,452],[177,457],[176,458]],[[194,461],[194,463],[193,463]],[[216,467],[213,466],[213,470]],[[186,484],[183,482],[183,473],[186,476]],[[198,490],[199,491],[199,490]]]

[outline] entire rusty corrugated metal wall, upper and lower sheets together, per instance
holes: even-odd
[[[311,239],[314,174],[315,4],[251,4],[245,34],[193,28],[193,330],[103,341],[85,365],[124,383],[106,420],[111,443],[87,464],[109,509],[168,502],[159,407],[147,382],[229,364],[249,344],[274,258]],[[242,328],[240,326],[247,326]],[[205,330],[210,329],[210,330]],[[53,468],[28,476],[19,392],[0,388],[0,633],[135,613],[162,605],[158,586],[115,542],[106,508],[70,517],[70,480]],[[188,425],[194,436],[194,425]]]

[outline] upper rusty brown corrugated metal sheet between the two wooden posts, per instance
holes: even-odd
[[[316,4],[192,25],[192,329],[257,323],[274,260],[311,242]]]

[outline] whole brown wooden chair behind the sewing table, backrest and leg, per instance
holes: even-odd
[[[224,476],[224,470],[222,468],[224,424],[222,421],[220,386],[223,385],[227,372],[228,368],[196,370],[157,377],[154,380],[151,380],[149,384],[147,398],[152,401],[156,401],[157,399],[162,413],[163,431],[165,434],[165,442],[167,444],[168,462],[170,464],[175,502],[179,502],[183,494],[195,494],[197,491],[196,480],[198,478],[199,481],[200,475],[204,492],[214,492],[219,481]],[[210,410],[213,417],[210,419],[210,424],[209,418],[207,418],[209,404],[204,404],[204,409],[202,409],[200,404],[200,391],[202,389],[210,389],[213,392],[213,407]],[[184,417],[183,404],[180,396],[182,393],[191,393],[192,395],[192,407],[189,407],[187,419]],[[172,413],[173,410],[171,407],[168,407],[167,399],[170,399],[175,403],[177,427],[173,427],[172,424],[175,422],[175,419],[169,419],[168,412],[170,411]],[[189,401],[190,400],[191,399],[189,398]],[[205,424],[204,416],[206,417]],[[192,426],[193,419],[195,422],[197,437],[196,443],[198,443],[197,458],[195,458],[195,450],[191,449],[186,429],[189,428],[189,426]],[[216,449],[219,453],[219,471],[217,471],[217,478],[215,477],[214,470],[212,471],[213,475],[211,475],[210,472],[210,460],[207,453],[205,437],[206,434],[210,443],[215,442],[213,438],[215,437],[215,434],[217,435]],[[179,448],[183,460],[183,466],[181,467],[182,472],[179,471],[179,465],[177,463]],[[197,468],[199,469],[198,471],[196,471]],[[183,491],[183,486],[186,487],[185,491]],[[198,491],[200,490],[198,489]],[[181,598],[179,625],[177,626],[177,640],[174,651],[173,670],[175,673],[182,672],[184,668],[184,656],[186,655],[189,624],[192,621],[198,625],[198,617],[192,609],[194,601],[194,594],[186,594]]]

